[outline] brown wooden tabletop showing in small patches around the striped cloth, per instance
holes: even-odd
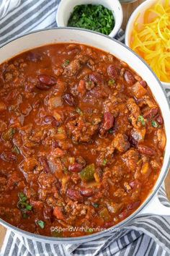
[[[122,28],[124,30],[125,30],[126,24],[128,22],[128,19],[130,17],[130,14],[132,14],[133,10],[136,7],[138,7],[138,5],[141,4],[143,1],[145,1],[145,0],[138,0],[138,1],[135,1],[135,3],[132,3],[132,4],[122,4],[123,15],[124,15]],[[168,176],[166,177],[165,186],[166,186],[166,194],[168,195],[169,200],[170,200],[170,171],[169,171]],[[6,234],[6,229],[3,226],[0,225],[0,248],[1,248],[1,245],[3,244],[3,242],[4,242],[5,234]]]

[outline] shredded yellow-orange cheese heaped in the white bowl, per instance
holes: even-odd
[[[170,82],[170,5],[169,0],[156,1],[135,20],[130,48],[148,62],[158,78]]]

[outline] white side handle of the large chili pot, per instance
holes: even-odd
[[[140,214],[156,214],[161,216],[170,216],[170,208],[162,205],[158,199],[158,193],[151,199]]]

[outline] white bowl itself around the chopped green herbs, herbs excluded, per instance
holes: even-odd
[[[117,32],[120,30],[123,18],[122,6],[118,0],[61,0],[56,14],[56,22],[58,27],[67,27],[69,17],[73,12],[73,8],[76,7],[76,5],[81,4],[102,4],[104,7],[112,10],[115,17],[115,27],[109,36],[114,38]]]

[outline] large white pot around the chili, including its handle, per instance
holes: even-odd
[[[35,33],[30,33],[28,35],[24,35],[20,38],[12,40],[10,43],[6,43],[5,46],[0,48],[0,64],[7,59],[11,59],[12,56],[20,54],[23,51],[26,51],[31,48],[36,48],[38,46],[42,46],[50,43],[83,43],[89,46],[94,46],[96,48],[100,48],[103,51],[107,51],[110,54],[117,56],[117,58],[122,61],[127,62],[132,69],[135,70],[150,86],[158,105],[161,108],[162,115],[164,117],[164,125],[166,129],[166,150],[164,155],[164,164],[161,168],[160,175],[158,176],[158,180],[153,187],[153,191],[151,191],[150,195],[148,195],[145,202],[140,205],[140,208],[135,210],[135,213],[130,215],[124,221],[121,221],[117,225],[113,226],[113,228],[107,229],[105,231],[100,231],[97,234],[91,234],[89,236],[80,236],[80,237],[70,237],[70,238],[57,238],[57,237],[49,237],[49,236],[40,236],[38,234],[32,234],[27,231],[23,231],[18,229],[9,223],[0,219],[0,223],[6,226],[8,229],[12,229],[12,231],[17,232],[22,236],[27,236],[30,239],[35,239],[41,242],[50,242],[50,243],[79,243],[79,242],[87,242],[99,237],[102,237],[105,233],[109,233],[112,229],[120,229],[122,226],[127,225],[127,223],[132,220],[137,214],[138,216],[143,213],[153,213],[158,215],[170,215],[169,208],[166,208],[164,205],[161,205],[159,202],[157,193],[158,189],[161,186],[164,178],[169,171],[170,164],[170,106],[169,101],[164,92],[164,89],[159,82],[156,75],[152,72],[152,70],[148,67],[148,65],[140,59],[130,48],[126,47],[122,43],[109,38],[106,35],[102,35],[100,33],[94,33],[89,30],[79,30],[76,28],[67,28],[61,27],[51,30],[41,30]]]

